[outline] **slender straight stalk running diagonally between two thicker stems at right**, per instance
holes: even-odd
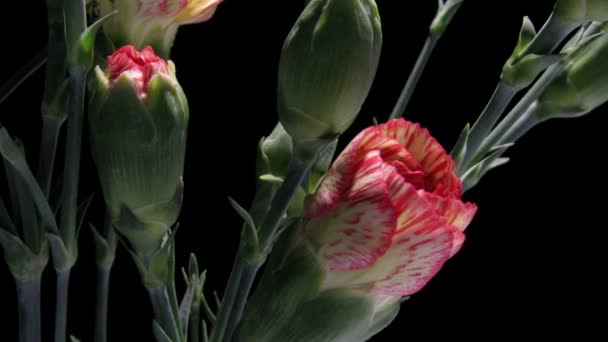
[[[517,103],[509,114],[496,126],[496,128],[484,139],[483,143],[475,151],[471,162],[467,165],[467,169],[478,163],[484,156],[500,141],[504,140],[506,133],[513,125],[528,111],[528,108],[540,97],[545,88],[553,81],[563,70],[565,62],[560,62],[545,71],[540,79],[528,91],[528,93]],[[466,172],[466,170],[465,170]]]

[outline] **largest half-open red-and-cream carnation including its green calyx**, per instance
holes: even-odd
[[[455,169],[419,125],[361,132],[277,243],[241,340],[357,342],[386,327],[464,242],[477,207]]]

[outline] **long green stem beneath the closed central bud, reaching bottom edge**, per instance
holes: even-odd
[[[259,253],[262,256],[260,258],[261,261],[251,264],[242,252],[243,248],[240,248],[241,251],[237,255],[228,285],[226,286],[226,293],[222,299],[216,325],[211,333],[210,340],[212,342],[230,341],[229,338],[233,335],[234,329],[243,314],[255,275],[262,266],[265,256],[270,253],[275,234],[285,212],[310,171],[316,160],[316,156],[327,147],[327,144],[327,141],[323,141],[305,148],[301,148],[297,144],[294,147],[294,156],[289,164],[287,176],[274,196],[270,209],[259,229]],[[241,242],[241,244],[243,245],[244,243]],[[233,323],[230,327],[231,330],[228,330],[228,323],[230,321]]]

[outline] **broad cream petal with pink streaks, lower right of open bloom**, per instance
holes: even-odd
[[[391,247],[368,269],[329,272],[325,288],[363,287],[377,294],[405,296],[422,288],[450,257],[454,232],[445,219],[386,164],[384,173],[395,205],[403,209]]]

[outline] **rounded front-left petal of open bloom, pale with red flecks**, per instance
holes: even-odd
[[[389,248],[397,212],[382,167],[380,153],[369,152],[357,165],[352,186],[340,203],[306,224],[304,234],[320,247],[329,269],[369,267]]]

